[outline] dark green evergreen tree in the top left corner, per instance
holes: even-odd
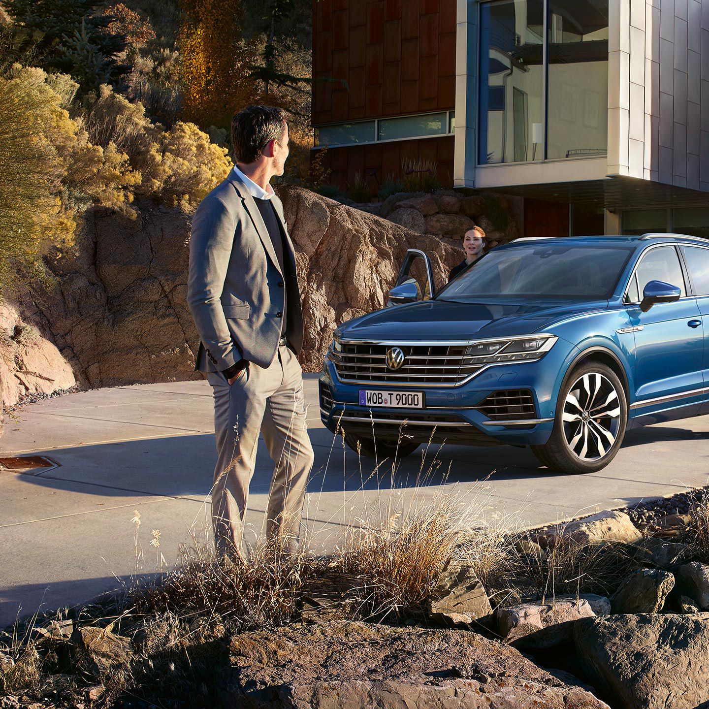
[[[125,37],[108,30],[111,16],[94,13],[96,0],[3,0],[3,4],[16,31],[41,37],[39,65],[70,74],[82,91],[116,83],[128,71],[116,61]]]

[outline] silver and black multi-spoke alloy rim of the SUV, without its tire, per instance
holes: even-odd
[[[579,376],[566,394],[562,423],[566,445],[577,458],[603,458],[620,430],[620,398],[613,383],[598,372]]]

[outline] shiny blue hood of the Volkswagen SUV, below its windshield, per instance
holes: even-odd
[[[488,303],[420,301],[342,323],[336,332],[357,340],[472,340],[540,333],[559,320],[604,310],[608,301],[569,304],[499,298]]]

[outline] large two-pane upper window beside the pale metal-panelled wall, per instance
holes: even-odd
[[[608,0],[493,0],[479,37],[479,164],[606,154]]]

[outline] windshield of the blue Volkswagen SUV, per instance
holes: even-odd
[[[560,242],[493,250],[445,286],[436,298],[608,298],[630,256],[623,247]]]

